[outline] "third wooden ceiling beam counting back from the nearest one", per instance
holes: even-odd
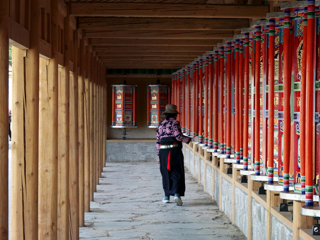
[[[85,30],[85,37],[224,39],[233,37],[233,30]]]

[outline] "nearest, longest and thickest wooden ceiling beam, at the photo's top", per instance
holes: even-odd
[[[74,16],[265,18],[268,5],[71,2]]]

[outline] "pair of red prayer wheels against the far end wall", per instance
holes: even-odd
[[[112,125],[114,128],[137,127],[137,85],[112,86]],[[168,85],[147,85],[147,127],[157,128],[163,120],[165,105],[171,102]]]

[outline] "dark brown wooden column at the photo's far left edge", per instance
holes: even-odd
[[[0,4],[0,240],[8,239],[9,0]]]

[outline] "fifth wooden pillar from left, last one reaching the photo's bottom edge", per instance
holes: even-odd
[[[78,30],[73,32],[73,72],[69,82],[69,200],[70,200],[70,240],[79,239],[79,116],[78,116]],[[83,162],[81,163],[83,166]]]

